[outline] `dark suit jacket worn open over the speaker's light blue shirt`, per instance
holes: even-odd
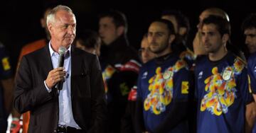
[[[53,69],[48,45],[26,54],[16,76],[14,107],[31,111],[28,132],[55,132],[58,127],[58,93],[46,90],[44,81]],[[85,132],[104,132],[105,91],[97,56],[71,47],[71,102],[75,122]]]

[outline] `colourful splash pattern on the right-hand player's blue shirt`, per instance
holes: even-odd
[[[207,94],[201,100],[201,111],[208,110],[213,115],[228,112],[228,107],[233,105],[236,96],[235,76],[242,72],[245,64],[240,59],[235,59],[232,67],[228,66],[219,73],[218,67],[213,67],[212,76],[209,76],[205,91]]]

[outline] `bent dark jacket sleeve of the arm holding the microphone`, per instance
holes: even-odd
[[[14,88],[14,108],[19,113],[33,110],[56,96],[54,90],[48,93],[43,81],[33,83],[36,80],[36,77],[33,77],[33,71],[35,68],[31,66],[28,58],[23,57],[16,75]]]

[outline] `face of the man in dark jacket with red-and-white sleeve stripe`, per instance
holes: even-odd
[[[117,27],[113,23],[113,18],[100,18],[99,33],[100,37],[102,38],[102,41],[106,45],[110,45],[110,43],[114,42],[114,40],[116,40],[117,37],[119,37],[117,33]]]

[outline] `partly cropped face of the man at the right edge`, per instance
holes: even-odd
[[[256,52],[256,28],[245,29],[245,44],[248,47],[249,52],[252,54]]]

